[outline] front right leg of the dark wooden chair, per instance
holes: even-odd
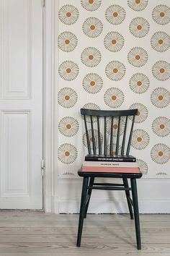
[[[140,222],[139,222],[139,212],[138,212],[138,193],[137,193],[137,187],[136,187],[136,179],[131,179],[130,181],[131,181],[132,194],[133,194],[133,210],[134,210],[134,217],[135,217],[136,242],[137,242],[137,248],[141,249]]]

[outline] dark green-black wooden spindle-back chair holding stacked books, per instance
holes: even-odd
[[[102,111],[81,108],[81,115],[84,118],[85,131],[86,131],[86,144],[88,147],[89,155],[112,155],[115,150],[115,155],[129,155],[130,143],[133,135],[133,125],[135,115],[138,109],[130,110],[116,110],[116,111]],[[103,119],[103,127],[101,119]],[[117,128],[116,133],[113,127]],[[101,131],[104,130],[103,137]],[[91,135],[91,136],[89,136]],[[122,135],[122,136],[121,136]],[[102,141],[103,138],[103,141]],[[108,142],[108,145],[107,145]],[[115,143],[114,143],[115,142]],[[115,145],[115,149],[114,149]],[[120,148],[121,147],[121,148]],[[103,148],[103,150],[102,150]],[[79,214],[79,229],[77,236],[77,247],[81,246],[81,234],[83,229],[84,218],[89,207],[92,189],[105,189],[105,190],[125,190],[125,195],[128,201],[128,208],[130,218],[133,219],[133,211],[135,217],[135,233],[137,248],[141,249],[140,242],[140,222],[138,213],[138,194],[136,187],[136,179],[142,176],[142,173],[106,173],[78,171],[79,176],[83,177],[83,186],[81,192],[81,206]],[[122,184],[115,183],[95,183],[95,178],[121,178]],[[130,179],[131,187],[128,185]],[[132,199],[130,197],[130,190],[132,192]]]

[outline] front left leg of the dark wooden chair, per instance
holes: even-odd
[[[86,208],[86,192],[87,192],[87,186],[88,186],[89,178],[84,177],[83,186],[82,186],[82,192],[81,192],[81,205],[80,205],[80,214],[79,214],[79,228],[78,228],[78,235],[77,235],[77,247],[81,246],[81,234],[83,230],[84,225],[84,214],[85,214],[85,208]]]

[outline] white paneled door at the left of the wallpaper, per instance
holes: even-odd
[[[42,209],[41,0],[0,0],[0,208]]]

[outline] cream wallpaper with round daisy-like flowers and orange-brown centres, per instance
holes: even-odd
[[[138,108],[130,153],[144,178],[169,177],[170,1],[59,3],[59,176],[75,178],[87,153],[84,107]]]

